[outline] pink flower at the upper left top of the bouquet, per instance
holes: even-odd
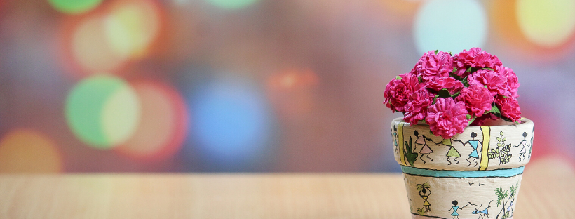
[[[449,77],[453,71],[453,58],[449,53],[438,51],[428,51],[415,65],[415,72],[424,81],[433,80],[438,77]]]

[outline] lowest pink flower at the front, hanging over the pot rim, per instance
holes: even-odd
[[[453,98],[438,98],[434,105],[427,108],[425,120],[434,135],[452,138],[468,126],[466,115],[464,102],[455,102]]]

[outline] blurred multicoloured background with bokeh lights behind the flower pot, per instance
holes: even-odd
[[[572,0],[0,0],[0,172],[399,171],[386,84],[475,46],[573,165]]]

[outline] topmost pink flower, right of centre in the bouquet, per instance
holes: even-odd
[[[469,51],[464,50],[453,56],[453,67],[457,69],[455,74],[462,78],[469,74],[466,72],[469,67],[494,69],[501,65],[503,64],[496,55],[491,55],[477,47],[471,48]]]

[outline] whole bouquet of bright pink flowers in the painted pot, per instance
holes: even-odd
[[[456,55],[428,51],[411,72],[386,86],[384,104],[410,124],[424,121],[433,135],[451,138],[486,119],[518,123],[517,75],[496,55],[471,48]]]

